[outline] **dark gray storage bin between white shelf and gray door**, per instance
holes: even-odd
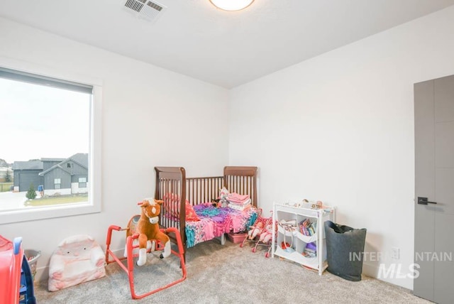
[[[326,221],[328,272],[348,281],[361,281],[366,229],[353,229]]]

